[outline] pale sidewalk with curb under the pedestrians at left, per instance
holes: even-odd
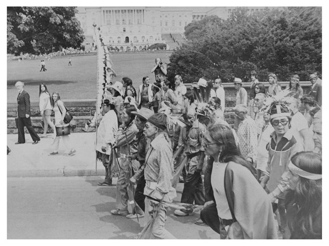
[[[57,155],[53,151],[52,134],[41,138],[38,144],[32,144],[29,134],[25,134],[24,144],[15,144],[17,134],[7,135],[7,145],[12,150],[7,155],[7,177],[60,177],[60,176],[105,176],[101,161],[97,161],[95,133],[71,133],[70,143],[76,153],[66,156],[65,145],[60,140]]]

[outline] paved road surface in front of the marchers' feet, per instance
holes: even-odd
[[[101,187],[102,177],[8,178],[8,239],[133,239],[137,222],[110,214],[115,186]],[[113,180],[114,184],[116,180]],[[183,185],[178,186],[180,200]],[[166,228],[179,239],[219,239],[198,215],[176,217],[169,210]]]

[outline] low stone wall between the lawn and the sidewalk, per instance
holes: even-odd
[[[268,83],[263,83],[265,87],[268,87]],[[289,82],[280,82],[282,88],[285,88]],[[302,81],[301,86],[304,90],[304,94],[307,94],[310,90],[311,83],[309,81]],[[190,84],[185,84],[188,90],[191,90]],[[235,106],[235,96],[236,90],[232,83],[223,84],[225,90],[225,119],[229,124],[234,123],[234,112],[233,107]],[[246,91],[250,92],[250,83],[244,83],[243,87]],[[248,99],[249,101],[249,99]],[[63,100],[65,106],[73,114],[74,124],[71,127],[71,132],[83,132],[85,124],[88,119],[92,118],[96,110],[96,100]],[[15,117],[17,116],[17,102],[9,102],[7,105],[7,133],[17,134],[17,128],[15,124]],[[52,114],[52,119],[54,120],[54,112]],[[39,103],[37,101],[31,102],[31,122],[37,133],[43,133],[42,116],[39,112]],[[26,133],[27,130],[24,128]],[[91,129],[95,131],[95,129]],[[48,133],[51,133],[51,128],[48,129]]]

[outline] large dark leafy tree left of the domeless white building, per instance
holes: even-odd
[[[49,53],[80,48],[84,40],[75,7],[7,7],[7,52]]]

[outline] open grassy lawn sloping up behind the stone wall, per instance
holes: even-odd
[[[118,53],[112,54],[113,69],[117,73],[114,80],[130,77],[138,90],[143,76],[149,76],[154,82],[155,58],[160,57],[163,63],[169,63],[168,53]],[[7,102],[16,101],[15,83],[21,80],[31,101],[38,101],[39,84],[47,85],[48,91],[60,94],[61,99],[95,99],[97,56],[71,56],[72,66],[68,66],[69,56],[55,57],[46,60],[46,72],[40,72],[40,59],[7,61]]]

